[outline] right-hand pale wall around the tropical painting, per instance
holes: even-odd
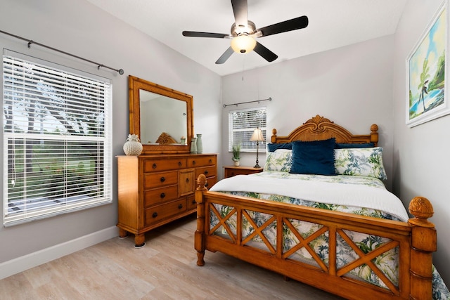
[[[442,0],[408,1],[397,27],[393,65],[395,138],[393,168],[394,193],[404,200],[406,207],[409,200],[418,195],[427,197],[432,202],[435,215],[430,221],[435,223],[437,228],[437,252],[433,256],[433,261],[449,285],[450,115],[413,128],[405,125],[406,58],[434,18],[440,4]],[[448,66],[449,62],[446,62],[446,65]],[[446,72],[448,71],[447,67]],[[448,90],[446,88],[445,92],[448,93]]]

